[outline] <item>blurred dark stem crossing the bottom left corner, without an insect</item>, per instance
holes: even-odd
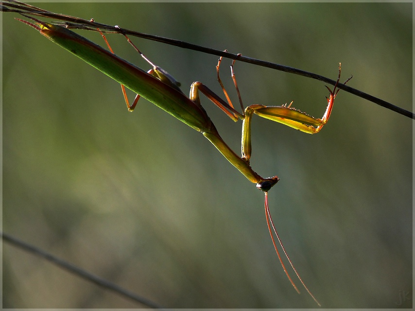
[[[86,279],[90,282],[93,282],[93,283],[97,284],[98,286],[101,286],[105,289],[113,291],[113,292],[115,292],[117,294],[120,294],[124,297],[130,298],[130,299],[132,299],[136,302],[139,302],[140,304],[143,304],[147,307],[150,307],[150,308],[153,308],[153,309],[161,309],[161,307],[159,305],[157,305],[155,302],[153,302],[149,299],[146,299],[144,297],[141,297],[137,294],[134,294],[132,292],[129,292],[128,290],[123,289],[122,287],[120,287],[120,286],[118,286],[114,283],[111,283],[111,282],[105,280],[104,278],[101,278],[99,276],[95,276],[95,275],[93,275],[93,274],[91,274],[91,273],[89,273],[89,272],[87,272],[87,271],[85,271],[85,270],[83,270],[83,269],[81,269],[77,266],[74,266],[74,265],[70,264],[69,262],[67,262],[63,259],[57,258],[57,257],[47,253],[46,251],[44,251],[40,248],[32,246],[32,245],[30,245],[26,242],[20,241],[20,240],[16,239],[15,237],[13,237],[13,236],[11,236],[7,233],[4,233],[4,232],[0,232],[0,235],[1,235],[4,242],[8,242],[8,243],[10,243],[10,244],[12,244],[16,247],[19,247],[19,248],[21,248],[21,249],[23,249],[27,252],[30,252],[30,253],[34,254],[36,256],[42,257],[46,260],[49,260],[53,264],[57,265],[58,267],[60,267],[62,269],[65,269],[65,270],[69,271],[70,273],[73,273],[73,274],[75,274],[79,277],[82,277],[82,278],[84,278],[84,279]]]

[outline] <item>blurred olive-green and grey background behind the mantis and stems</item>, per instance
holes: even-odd
[[[353,74],[350,86],[412,110],[412,3],[37,6],[332,79],[342,62],[342,81]],[[281,269],[263,194],[207,139],[145,100],[128,113],[116,82],[16,15],[2,17],[5,232],[166,308],[316,307]],[[123,37],[108,39],[149,69]],[[222,96],[217,56],[134,42],[185,93],[201,81]],[[237,101],[229,64],[222,78]],[[244,63],[235,70],[245,105],[294,100],[324,113],[319,81]],[[242,122],[202,104],[239,152]],[[412,298],[412,125],[344,91],[318,135],[254,118],[252,167],[280,177],[269,195],[274,222],[325,308]],[[140,307],[8,244],[3,269],[5,308]]]

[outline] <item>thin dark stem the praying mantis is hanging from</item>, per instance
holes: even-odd
[[[143,34],[143,33],[131,31],[125,28],[118,28],[118,27],[116,28],[115,26],[97,23],[93,20],[86,20],[86,19],[79,18],[79,17],[52,13],[52,12],[37,8],[35,6],[29,5],[23,2],[19,2],[19,1],[15,1],[15,0],[8,0],[8,1],[1,2],[0,10],[2,12],[14,12],[14,13],[22,14],[22,15],[29,14],[29,15],[39,16],[39,17],[49,17],[52,19],[61,20],[61,21],[64,21],[61,24],[63,24],[64,26],[68,28],[85,29],[85,30],[90,30],[90,31],[97,31],[97,28],[100,28],[102,31],[106,33],[123,33],[126,35],[133,35],[133,36],[137,36],[137,37],[144,38],[144,39],[149,39],[149,40],[153,40],[153,41],[157,41],[157,42],[161,42],[165,44],[174,45],[174,46],[177,46],[183,49],[189,49],[189,50],[213,54],[217,56],[223,56],[225,58],[238,59],[238,61],[241,61],[241,62],[250,63],[253,65],[267,67],[271,69],[277,69],[277,70],[284,71],[284,72],[294,73],[294,74],[308,77],[311,79],[323,81],[333,86],[336,84],[335,80],[331,80],[322,75],[308,72],[305,70],[296,69],[296,68],[288,67],[284,65],[279,65],[279,64],[243,56],[243,55],[241,56],[241,55],[234,54],[234,53],[228,53],[228,52],[224,52],[220,50],[202,47],[200,45],[196,45],[196,44],[192,44],[192,43],[188,43],[188,42],[184,42],[184,41],[180,41],[176,39],[170,39],[170,38],[161,37],[157,35]],[[370,102],[373,102],[382,107],[395,111],[401,115],[415,119],[415,114],[413,112],[403,109],[401,107],[398,107],[397,105],[388,103],[384,100],[381,100],[380,98],[364,93],[353,87],[345,86],[344,84],[341,84],[341,83],[339,83],[337,87],[353,95],[362,97]]]

